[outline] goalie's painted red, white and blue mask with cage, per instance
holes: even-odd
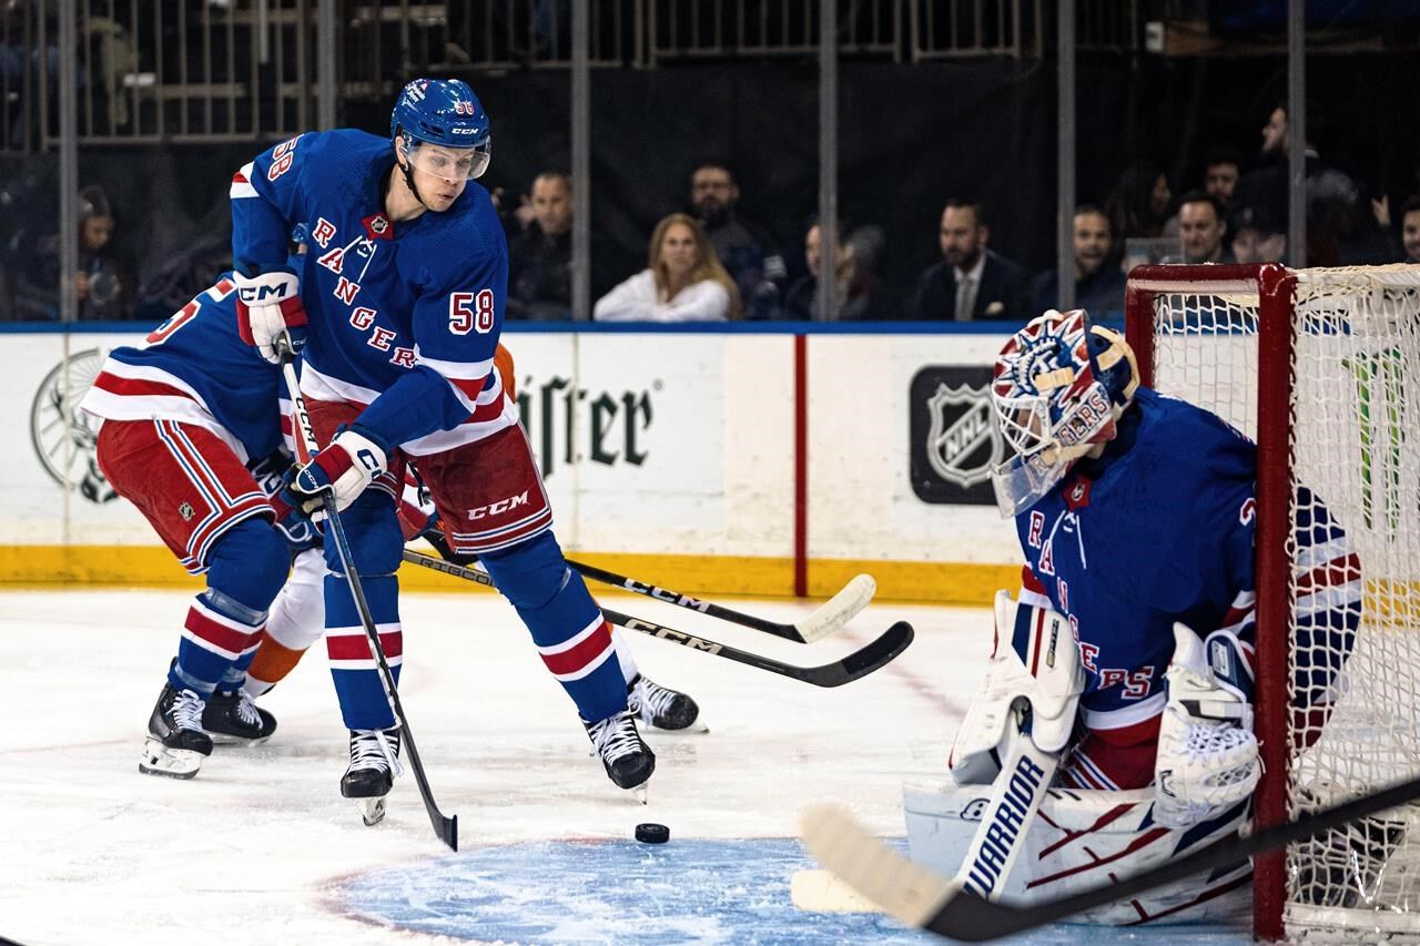
[[[991,406],[1015,456],[991,472],[1003,516],[1034,506],[1071,464],[1113,439],[1139,388],[1127,342],[1083,310],[1045,312],[995,359]]]

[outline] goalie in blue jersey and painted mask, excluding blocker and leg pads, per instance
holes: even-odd
[[[1064,615],[1078,645],[1082,686],[1058,740],[1059,783],[1153,785],[1153,820],[1164,827],[1244,818],[1261,774],[1254,445],[1216,415],[1142,388],[1125,339],[1079,310],[1047,312],[1007,342],[991,401],[1015,450],[995,470],[997,500],[1027,558],[1004,622]],[[1299,560],[1315,572],[1295,614],[1299,634],[1326,635],[1328,648],[1298,649],[1294,705],[1323,717],[1360,618],[1360,567],[1316,497],[1298,506]],[[1306,663],[1322,652],[1332,656]],[[967,730],[953,773],[990,780],[994,737]]]

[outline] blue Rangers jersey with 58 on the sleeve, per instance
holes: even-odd
[[[283,268],[291,227],[310,318],[301,389],[364,408],[358,423],[415,456],[517,423],[493,355],[508,254],[488,192],[469,182],[443,213],[393,222],[393,145],[354,129],[307,132],[231,182],[239,266]]]

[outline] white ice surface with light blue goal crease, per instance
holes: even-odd
[[[463,849],[450,854],[413,778],[396,783],[375,828],[339,797],[346,740],[320,645],[263,699],[280,723],[267,746],[217,747],[193,781],[141,776],[143,727],[187,599],[0,594],[10,723],[0,936],[27,946],[924,942],[885,918],[797,912],[788,878],[809,862],[792,838],[814,800],[903,834],[902,781],[944,773],[984,666],[985,609],[876,604],[804,646],[609,597],[621,611],[801,663],[836,659],[896,619],[917,629],[896,663],[832,690],[630,635],[642,669],[692,693],[710,726],[649,734],[659,764],[642,807],[588,756],[510,607],[460,589],[406,595],[400,693],[439,804],[459,814]],[[811,607],[734,604],[781,621]],[[632,841],[640,821],[669,825],[670,844]],[[1179,933],[1166,939],[1223,939]],[[1079,936],[1056,929],[1031,942]]]

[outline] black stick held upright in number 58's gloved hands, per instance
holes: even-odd
[[[287,342],[290,345],[290,342]],[[281,352],[281,376],[285,379],[285,391],[291,398],[291,413],[295,428],[295,457],[302,464],[311,462],[315,450],[315,428],[311,426],[311,415],[305,409],[305,398],[301,396],[301,385],[295,379],[294,354],[290,347]],[[327,490],[321,494],[325,507],[325,521],[329,524],[329,534],[335,537],[335,550],[341,557],[341,568],[345,570],[345,580],[349,584],[351,595],[355,598],[355,609],[359,612],[359,622],[369,638],[371,653],[375,655],[375,666],[379,670],[379,682],[385,687],[385,697],[395,713],[395,724],[405,736],[405,746],[409,749],[409,768],[415,773],[415,784],[419,785],[419,797],[425,800],[425,811],[429,812],[429,822],[435,828],[439,839],[449,845],[449,849],[459,849],[459,815],[452,818],[439,811],[435,793],[429,788],[429,777],[425,774],[425,764],[419,759],[419,749],[415,746],[415,734],[409,730],[409,717],[405,716],[405,706],[399,702],[399,690],[395,686],[395,675],[385,659],[385,648],[379,642],[379,629],[371,614],[369,602],[365,599],[365,588],[361,585],[359,574],[355,571],[355,555],[351,553],[349,538],[345,535],[345,526],[341,523],[335,509],[335,493]]]

